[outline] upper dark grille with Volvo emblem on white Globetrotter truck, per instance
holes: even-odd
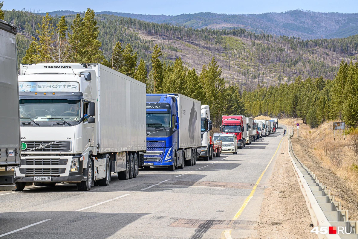
[[[71,151],[70,141],[25,141],[27,148],[22,151]]]

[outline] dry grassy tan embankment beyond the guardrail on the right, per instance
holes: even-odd
[[[297,138],[296,123],[300,124]],[[358,164],[357,156],[347,147],[349,136],[343,139],[343,132],[335,132],[333,121],[326,122],[317,129],[310,129],[300,119],[283,119],[279,124],[294,128],[292,146],[296,156],[326,185],[341,207],[348,210],[349,220],[358,220]],[[336,153],[334,154],[334,150]]]

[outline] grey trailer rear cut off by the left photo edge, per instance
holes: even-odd
[[[0,190],[15,190],[20,164],[20,126],[16,27],[0,20]]]

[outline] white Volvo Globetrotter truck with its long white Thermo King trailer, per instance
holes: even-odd
[[[146,86],[102,64],[23,64],[19,76],[24,183],[108,186],[136,177],[146,150]]]

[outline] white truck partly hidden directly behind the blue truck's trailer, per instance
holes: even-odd
[[[213,159],[213,144],[210,141],[210,130],[213,127],[213,121],[210,120],[210,109],[208,105],[200,107],[201,117],[201,150],[199,156],[204,158],[205,161]]]

